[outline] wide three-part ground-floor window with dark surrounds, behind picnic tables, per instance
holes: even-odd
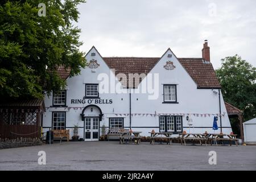
[[[164,115],[159,117],[159,131],[160,132],[182,132],[182,117],[174,115]]]

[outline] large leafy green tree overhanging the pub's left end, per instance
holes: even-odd
[[[0,2],[0,97],[43,98],[66,85],[56,68],[80,73],[86,61],[79,51],[77,5],[84,0]],[[39,3],[46,16],[39,16]]]

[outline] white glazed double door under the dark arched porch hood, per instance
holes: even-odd
[[[98,118],[85,118],[85,141],[98,141]]]

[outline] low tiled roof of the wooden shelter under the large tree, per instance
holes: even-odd
[[[18,107],[43,107],[44,108],[44,101],[38,98],[34,98],[31,100],[15,100],[15,101],[2,101],[0,102],[0,108],[18,108]]]

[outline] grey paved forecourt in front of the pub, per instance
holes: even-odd
[[[46,152],[46,165],[38,152]],[[209,164],[209,152],[217,164]],[[63,142],[0,150],[0,170],[256,170],[256,146]]]

